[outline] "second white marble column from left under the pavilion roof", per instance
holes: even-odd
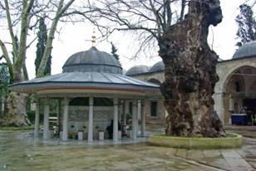
[[[49,113],[50,113],[50,106],[49,106],[49,99],[48,97],[45,98],[44,101],[44,108],[43,108],[43,139],[49,139]]]

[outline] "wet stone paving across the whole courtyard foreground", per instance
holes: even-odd
[[[0,170],[256,170],[256,139],[244,138],[241,149],[186,150],[45,143],[26,132],[0,132]]]

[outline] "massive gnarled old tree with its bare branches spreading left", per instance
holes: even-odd
[[[116,30],[139,33],[142,45],[158,44],[165,63],[166,134],[225,136],[214,111],[214,85],[218,56],[210,50],[209,26],[222,20],[219,0],[106,0],[91,7],[103,35]],[[141,48],[140,48],[141,49]]]

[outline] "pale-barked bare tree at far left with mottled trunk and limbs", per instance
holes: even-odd
[[[28,42],[28,37],[37,28],[39,17],[47,16],[50,28],[47,34],[46,47],[42,53],[42,60],[37,71],[37,77],[44,76],[58,22],[61,20],[62,22],[66,20],[72,22],[73,18],[71,16],[78,12],[76,7],[71,7],[74,1],[4,0],[0,2],[0,20],[1,23],[4,23],[1,27],[5,27],[3,29],[8,30],[10,37],[7,41],[3,41],[5,37],[0,37],[0,47],[2,56],[7,62],[11,83],[24,80],[23,73],[26,71],[27,48],[37,39],[36,37],[32,39],[32,42]],[[86,16],[86,12],[79,11],[84,16]],[[14,32],[19,34],[19,42],[17,42]],[[13,61],[9,55],[8,47],[12,49]],[[25,98],[26,95],[12,91],[8,94],[7,114],[4,119],[0,120],[0,125],[21,126],[29,124],[26,115]]]

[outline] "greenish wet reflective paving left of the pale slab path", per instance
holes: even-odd
[[[32,139],[26,132],[0,133],[0,170],[204,170],[146,144],[88,146]]]

